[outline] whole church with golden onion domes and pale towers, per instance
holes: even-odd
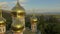
[[[10,24],[11,27],[10,30],[6,30],[6,19],[2,16],[2,9],[0,9],[0,34],[38,34],[37,17],[35,17],[35,14],[33,14],[29,18],[31,29],[26,27],[26,12],[25,9],[19,4],[19,1],[17,1],[16,5],[12,8],[10,15],[12,17],[12,23]]]

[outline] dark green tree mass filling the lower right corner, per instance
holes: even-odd
[[[56,18],[52,16],[48,22],[44,21],[44,16],[40,16],[38,26],[42,34],[60,34],[60,24],[57,22]]]

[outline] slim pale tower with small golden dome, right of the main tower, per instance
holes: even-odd
[[[30,18],[30,22],[32,32],[37,32],[38,19],[36,18],[35,14],[33,14],[33,16]]]

